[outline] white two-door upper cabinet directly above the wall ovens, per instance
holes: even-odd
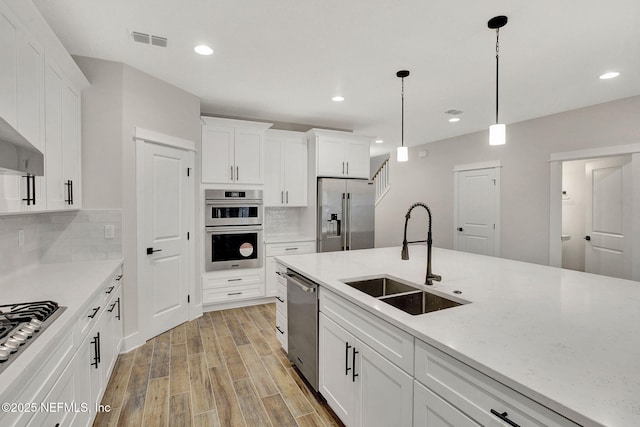
[[[262,184],[264,131],[271,123],[202,117],[202,182]]]

